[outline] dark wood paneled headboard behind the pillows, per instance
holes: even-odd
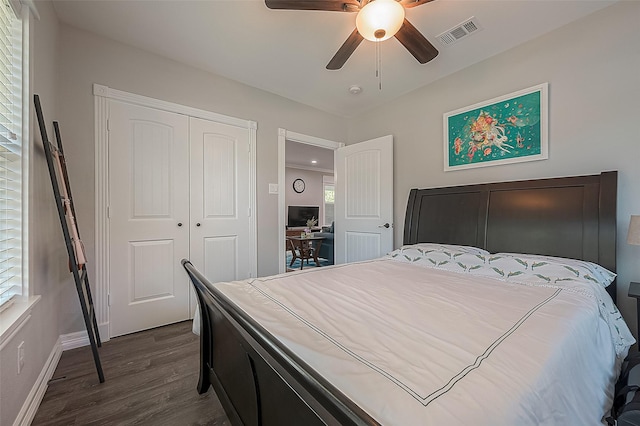
[[[412,189],[404,244],[568,257],[616,271],[618,172]],[[607,288],[616,300],[615,281]]]

